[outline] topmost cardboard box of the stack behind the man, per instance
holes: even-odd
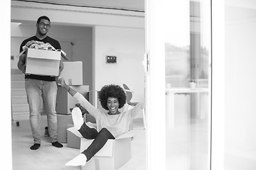
[[[82,62],[63,62],[64,68],[60,77],[65,79],[68,85],[82,85]]]

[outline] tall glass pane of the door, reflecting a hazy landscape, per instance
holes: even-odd
[[[165,1],[166,169],[210,169],[210,1]]]

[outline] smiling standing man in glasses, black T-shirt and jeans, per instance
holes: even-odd
[[[55,49],[60,49],[58,40],[48,37],[48,29],[50,28],[50,19],[47,16],[41,16],[36,22],[36,35],[26,40],[23,40],[20,47],[20,52],[27,42],[34,40],[39,42],[48,42]],[[18,60],[18,69],[23,74],[26,73],[26,55],[23,54]],[[59,75],[63,70],[63,62],[60,60]],[[30,112],[30,123],[33,134],[34,145],[32,150],[36,150],[41,146],[41,106],[42,101],[46,108],[46,115],[48,120],[48,132],[50,140],[54,147],[63,147],[57,139],[57,115],[55,111],[57,98],[57,81],[58,77],[41,76],[35,74],[25,74],[26,95]]]

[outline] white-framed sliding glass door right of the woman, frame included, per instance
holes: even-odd
[[[147,113],[153,133],[147,140],[154,136],[154,127],[164,127],[164,142],[159,141],[164,147],[156,151],[165,155],[164,169],[210,169],[210,0],[146,3]],[[152,98],[161,104],[154,105]],[[158,111],[161,116],[161,106],[164,119],[154,126],[151,114]]]

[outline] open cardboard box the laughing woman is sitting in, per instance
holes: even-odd
[[[92,127],[90,124],[90,127]],[[78,130],[75,128],[69,128],[70,132],[80,137],[80,153],[83,152],[93,140],[87,140],[80,135]],[[90,161],[88,161],[85,166],[81,166],[81,169],[90,170],[117,170],[124,164],[126,164],[129,159],[131,159],[131,139],[136,134],[138,130],[130,130],[117,137],[115,140],[107,140],[107,143],[100,149],[97,154],[95,154]]]

